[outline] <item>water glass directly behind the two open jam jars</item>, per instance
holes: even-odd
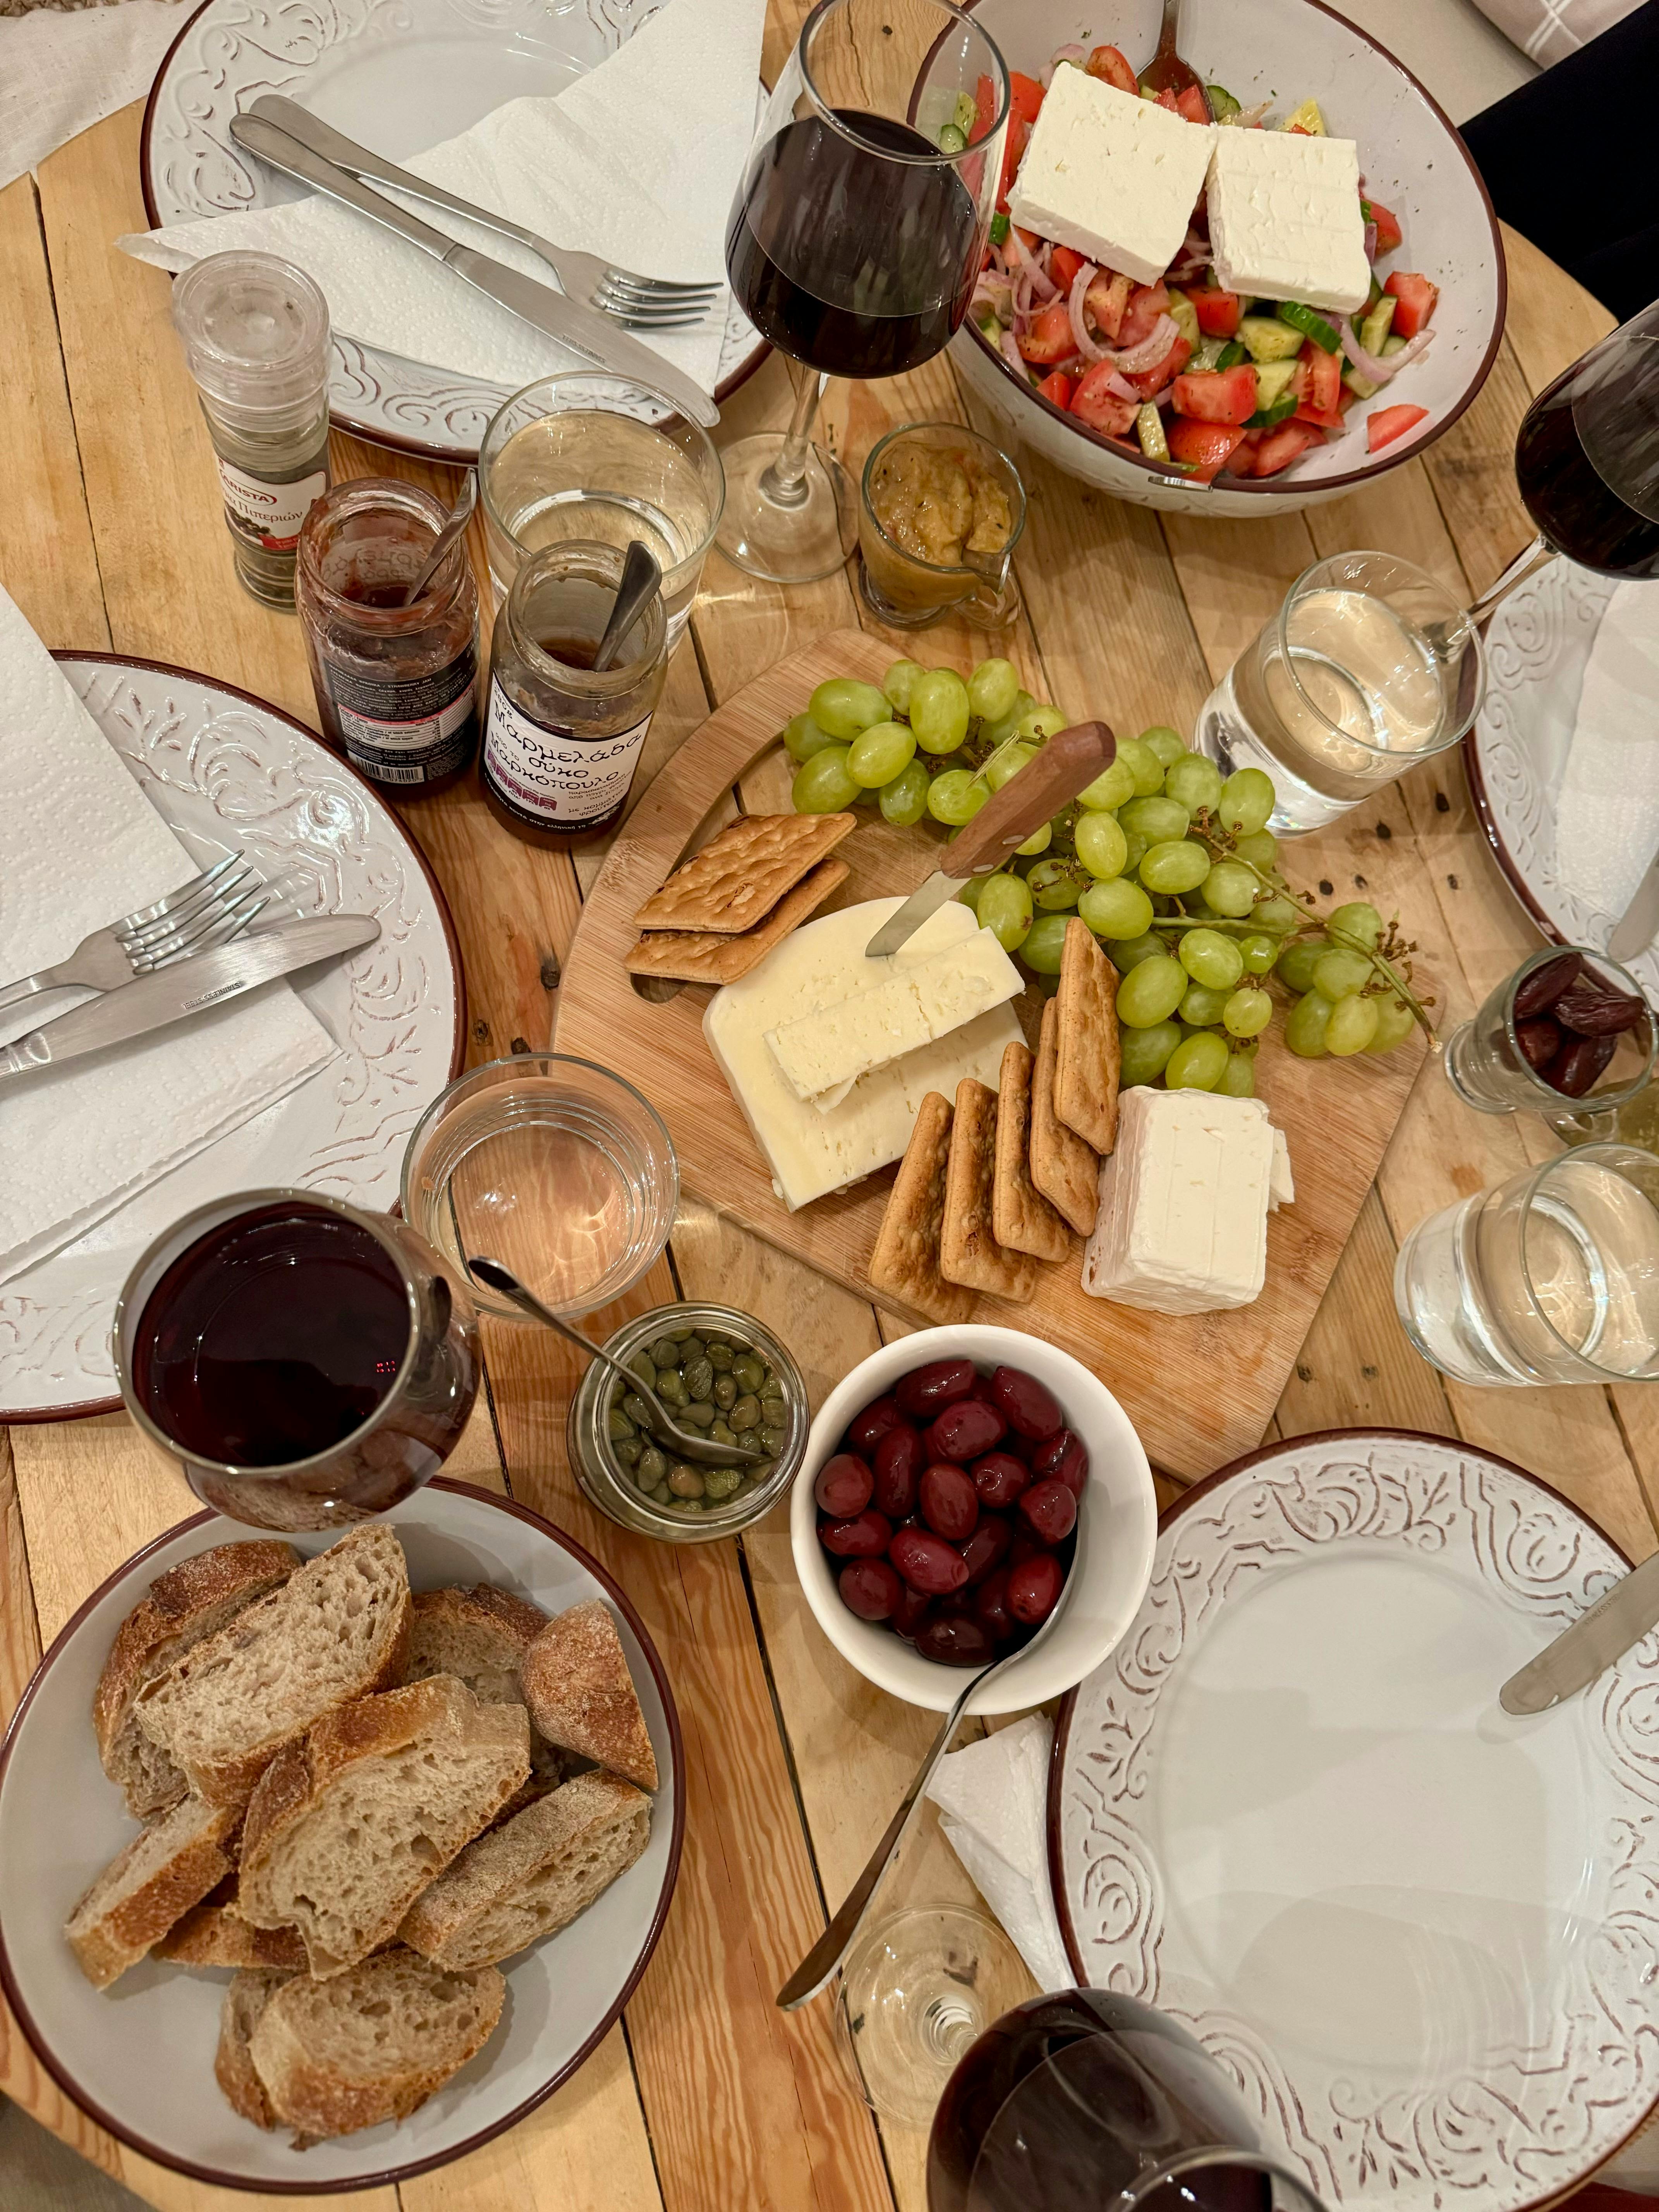
[[[726,507],[708,431],[630,376],[575,369],[524,385],[478,451],[484,544],[495,604],[531,553],[571,538],[626,551],[644,540],[661,564],[672,653]]]

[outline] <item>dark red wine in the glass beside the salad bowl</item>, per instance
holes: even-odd
[[[787,124],[754,159],[726,234],[726,270],[750,323],[830,376],[900,376],[949,341],[975,276],[962,179],[918,131],[838,108]],[[867,142],[867,144],[860,144]]]

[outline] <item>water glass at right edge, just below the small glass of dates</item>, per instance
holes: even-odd
[[[1420,1221],[1400,1245],[1405,1334],[1458,1383],[1659,1376],[1659,1157],[1584,1144]]]

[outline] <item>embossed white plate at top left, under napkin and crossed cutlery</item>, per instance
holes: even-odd
[[[246,161],[230,117],[285,93],[389,161],[469,131],[507,100],[549,97],[615,53],[664,0],[204,0],[144,108],[139,175],[150,226],[303,199]],[[553,281],[553,279],[549,279]],[[730,303],[714,398],[761,365],[765,343]],[[573,369],[591,363],[571,354]],[[334,334],[338,429],[427,460],[478,460],[509,385],[405,361]]]

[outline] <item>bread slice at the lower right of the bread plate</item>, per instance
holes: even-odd
[[[577,1774],[469,1843],[398,1933],[438,1966],[493,1966],[566,1927],[650,1843],[650,1798],[619,1774]]]

